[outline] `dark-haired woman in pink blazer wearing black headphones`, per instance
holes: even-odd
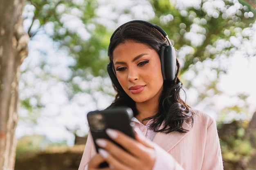
[[[134,111],[135,139],[107,129],[122,150],[89,133],[79,170],[223,170],[216,122],[180,98],[180,64],[168,35],[140,20],[121,25],[108,49],[108,72],[117,95],[111,107]]]

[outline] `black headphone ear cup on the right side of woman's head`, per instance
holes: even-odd
[[[162,61],[161,61],[162,64]],[[164,73],[166,80],[173,81],[176,76],[176,53],[173,46],[166,46],[164,48],[164,61],[162,67],[164,66]]]

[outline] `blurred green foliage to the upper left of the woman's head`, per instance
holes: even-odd
[[[36,31],[28,30],[32,38],[38,31],[45,31],[59,43],[59,48],[67,50],[76,59],[76,64],[71,66],[74,72],[90,68],[94,76],[105,75],[99,70],[105,68],[108,61],[102,50],[107,48],[110,34],[106,33],[106,27],[95,21],[97,15],[94,11],[99,5],[96,0],[77,3],[71,0],[29,0],[28,3],[35,7],[30,28],[34,21],[40,23]],[[77,28],[70,24],[77,24]],[[45,28],[47,25],[52,26],[50,33]]]

